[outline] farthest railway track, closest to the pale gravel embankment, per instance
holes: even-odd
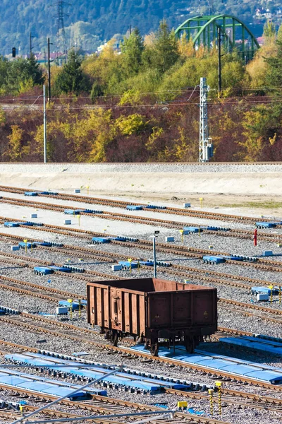
[[[27,191],[32,191],[30,189],[21,189],[19,187],[8,187],[8,186],[0,186],[0,191],[1,192],[9,192],[9,193],[16,193],[16,194],[25,194],[25,192]],[[52,194],[39,194],[39,196],[45,196],[48,198],[54,198],[54,199],[62,199],[62,200],[68,200],[68,201],[78,201],[78,202],[83,202],[83,203],[88,203],[88,204],[101,204],[104,206],[115,206],[118,208],[125,208],[128,205],[128,202],[126,201],[120,201],[120,200],[113,200],[113,199],[100,199],[97,197],[90,197],[90,196],[76,196],[73,194],[63,194],[63,193],[59,193],[57,195],[52,195]],[[140,205],[140,206],[144,206],[144,204],[137,204],[136,205]],[[68,207],[66,207],[68,208]],[[164,213],[164,210],[162,209],[152,209],[151,211],[154,211],[156,213]],[[214,213],[214,212],[204,212],[204,211],[183,211],[183,209],[180,208],[173,208],[173,207],[168,207],[165,209],[165,213],[172,213],[172,214],[176,214],[176,215],[181,215],[181,216],[196,216],[196,217],[200,217],[200,218],[210,218],[210,219],[216,219],[216,220],[231,220],[231,221],[239,221],[239,222],[251,222],[251,223],[255,223],[258,221],[271,221],[268,220],[267,218],[257,218],[256,220],[254,218],[250,218],[247,216],[237,216],[237,215],[226,215],[226,214],[222,214],[222,213]],[[280,222],[279,222],[280,224]]]

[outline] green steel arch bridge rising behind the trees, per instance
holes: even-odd
[[[221,30],[221,42],[223,49],[231,52],[234,48],[242,53],[243,59],[249,60],[254,57],[259,49],[255,35],[238,18],[231,15],[195,16],[185,20],[176,29],[176,36],[192,38],[195,48],[203,45],[212,49],[218,42],[218,28]]]

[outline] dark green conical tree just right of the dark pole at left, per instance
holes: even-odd
[[[57,93],[73,93],[78,95],[87,91],[88,81],[81,69],[82,58],[79,52],[73,49],[68,54],[68,63],[63,66],[63,71],[56,78],[54,89]]]

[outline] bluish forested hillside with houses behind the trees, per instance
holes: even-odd
[[[277,14],[278,3],[271,2],[270,13],[274,22],[281,18]],[[57,0],[1,0],[0,2],[0,54],[10,54],[12,47],[17,53],[27,54],[30,49],[30,32],[35,52],[44,51],[46,39],[56,43]],[[142,35],[155,31],[159,20],[165,18],[168,25],[176,28],[183,20],[197,15],[230,13],[241,18],[255,35],[262,34],[265,16],[253,18],[261,2],[242,0],[72,0],[63,6],[64,23],[68,46],[75,42],[83,49],[96,49],[101,42],[115,34],[125,34],[129,28],[137,27]],[[266,6],[265,6],[266,7]],[[60,48],[60,47],[59,47]],[[55,44],[53,50],[56,50]]]

